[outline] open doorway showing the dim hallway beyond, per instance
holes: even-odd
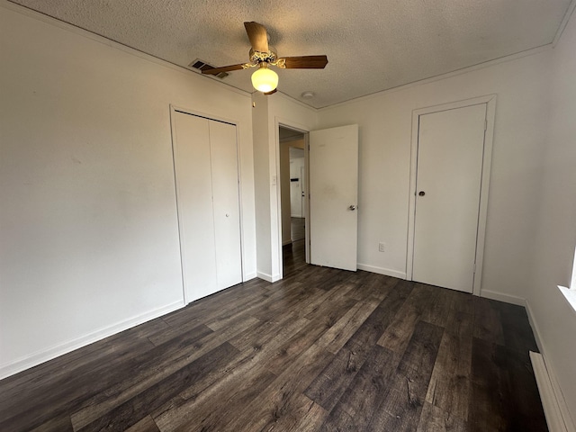
[[[283,275],[306,265],[305,135],[279,127]]]

